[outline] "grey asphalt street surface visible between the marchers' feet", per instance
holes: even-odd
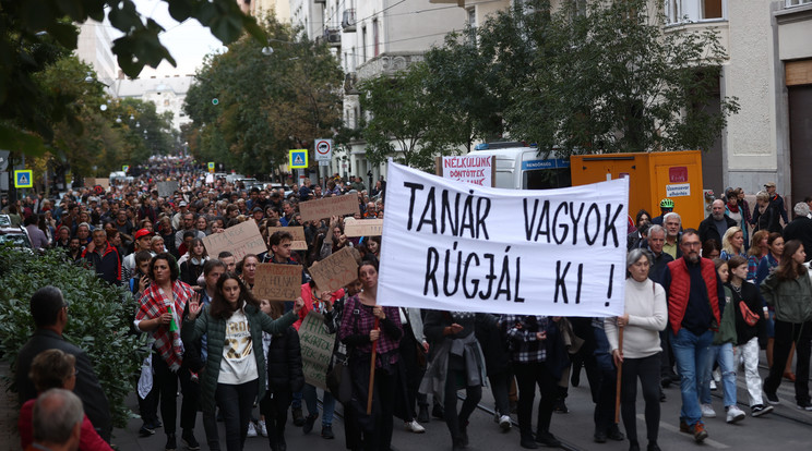
[[[764,355],[762,353],[762,362]],[[3,368],[8,374],[8,367]],[[766,376],[766,368],[762,367],[762,377]],[[581,377],[580,387],[571,387],[570,395],[566,400],[570,413],[554,414],[552,417],[551,431],[562,442],[568,450],[596,450],[596,451],[621,451],[629,449],[629,441],[607,443],[596,443],[593,441],[593,403],[589,394],[589,387],[585,374]],[[750,413],[748,405],[748,394],[744,380],[741,374],[737,378],[739,406]],[[463,393],[463,392],[461,392]],[[679,388],[671,386],[666,389],[667,401],[661,403],[661,418],[659,428],[659,444],[662,450],[810,450],[812,449],[812,412],[800,411],[795,405],[793,386],[785,380],[779,390],[778,397],[781,404],[775,406],[773,414],[753,418],[748,417],[741,423],[729,425],[725,422],[725,410],[721,402],[721,392],[713,393],[713,404],[717,413],[716,418],[706,418],[709,437],[701,446],[694,443],[693,438],[679,431],[679,411],[680,411],[680,392]],[[8,393],[5,393],[8,394]],[[637,402],[637,434],[643,449],[645,449],[645,422],[644,404],[640,399],[638,391]],[[19,449],[19,438],[12,430],[16,424],[15,413],[9,407],[7,395],[0,397],[2,406],[0,410],[0,422],[3,423],[2,432],[3,441],[9,444],[10,450]],[[13,399],[10,397],[9,399]],[[537,398],[538,400],[538,398]],[[128,404],[133,411],[138,411],[134,397],[131,397]],[[494,450],[521,450],[518,444],[518,430],[514,428],[509,432],[501,432],[498,425],[493,422],[493,415],[490,413],[493,407],[492,397],[489,389],[482,393],[482,402],[470,418],[468,435],[470,438],[469,449],[471,451],[494,451]],[[341,406],[337,407],[341,412]],[[306,412],[307,414],[307,412]],[[513,419],[516,417],[513,415]],[[13,423],[13,424],[12,424]],[[535,423],[534,423],[535,424]],[[220,438],[225,437],[223,424],[220,427]],[[426,426],[426,434],[411,434],[403,428],[403,423],[395,418],[395,430],[392,440],[392,448],[395,451],[406,450],[451,450],[451,439],[441,420],[432,418],[431,423]],[[157,434],[140,438],[138,430],[141,427],[141,420],[133,418],[129,422],[127,428],[114,430],[114,444],[120,451],[159,451],[164,449],[165,436],[163,429],[157,429]],[[344,431],[341,418],[334,420],[333,430],[336,438],[334,440],[324,440],[319,436],[321,430],[321,418],[317,420],[313,431],[304,436],[301,428],[294,427],[288,419],[286,439],[290,450],[344,450]],[[621,429],[623,429],[621,424]],[[204,432],[200,416],[198,416],[198,426],[195,436],[201,443],[204,441]],[[222,440],[223,441],[223,440]],[[178,443],[179,449],[184,449],[182,443]],[[223,443],[225,449],[225,443]],[[0,448],[4,448],[0,446]],[[203,444],[203,450],[207,447]],[[249,438],[246,441],[246,450],[268,450],[266,438]],[[541,447],[544,449],[544,447]]]

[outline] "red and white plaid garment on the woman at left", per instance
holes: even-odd
[[[175,324],[180,327],[180,316],[183,314],[187,302],[192,297],[192,288],[180,280],[176,280],[172,283],[172,294],[175,295],[172,315],[175,316]],[[167,306],[170,305],[169,297],[155,283],[144,290],[140,303],[139,310],[135,313],[136,321],[157,318],[167,313]],[[155,339],[155,350],[158,351],[169,369],[172,371],[180,369],[183,362],[183,344],[180,341],[180,330],[170,332],[168,326],[159,325],[157,329],[153,330],[152,334]]]

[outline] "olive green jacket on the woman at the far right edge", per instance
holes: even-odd
[[[796,280],[778,280],[773,272],[761,287],[762,297],[775,307],[775,318],[785,322],[803,322],[812,319],[812,283],[802,271]]]

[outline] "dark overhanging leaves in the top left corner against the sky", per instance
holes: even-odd
[[[235,41],[243,28],[265,39],[253,17],[244,15],[234,0],[164,0],[178,21],[195,19],[225,44]],[[175,64],[158,35],[164,28],[136,11],[132,0],[0,0],[0,148],[43,155],[52,138],[52,122],[63,112],[33,81],[36,73],[76,48],[74,23],[92,19],[110,24],[123,36],[114,41],[112,52],[129,76],[143,66],[163,60]],[[46,108],[51,115],[39,114]]]

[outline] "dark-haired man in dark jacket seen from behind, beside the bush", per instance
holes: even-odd
[[[51,349],[72,354],[76,357],[76,387],[73,392],[82,400],[85,414],[98,435],[109,442],[112,431],[110,406],[91,359],[84,351],[62,338],[62,330],[68,324],[68,303],[62,297],[62,292],[51,285],[37,290],[31,297],[31,315],[37,329],[20,350],[14,368],[20,404],[37,397],[34,382],[28,377],[31,363],[37,354]]]

